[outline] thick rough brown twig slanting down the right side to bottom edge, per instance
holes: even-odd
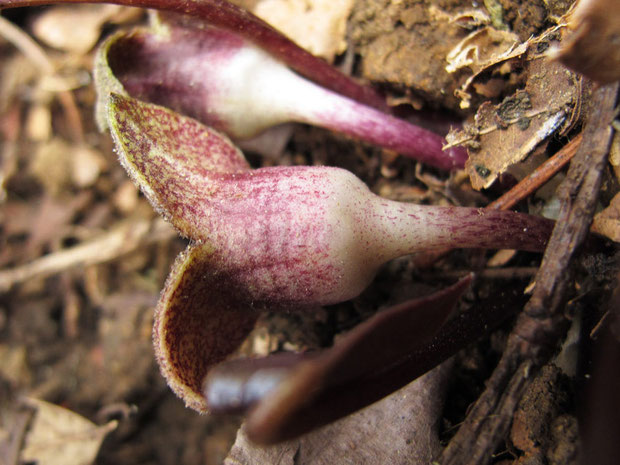
[[[442,465],[483,465],[505,438],[532,375],[565,334],[563,314],[571,259],[584,241],[611,143],[618,85],[597,89],[579,146],[559,191],[560,216],[545,252],[532,298],[519,316],[502,358],[458,433],[444,449]]]

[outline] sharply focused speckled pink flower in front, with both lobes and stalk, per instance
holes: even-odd
[[[209,367],[241,343],[257,310],[350,299],[387,260],[429,248],[541,251],[551,230],[518,213],[389,201],[339,168],[251,170],[225,136],[191,118],[117,94],[108,108],[121,162],[193,241],[154,333],[164,376],[197,410],[208,408]]]

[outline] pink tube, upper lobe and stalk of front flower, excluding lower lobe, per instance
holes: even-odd
[[[212,265],[245,282],[255,301],[334,303],[359,294],[400,255],[455,246],[540,250],[549,233],[550,223],[526,215],[387,201],[338,168],[249,170],[216,132],[121,99],[130,111],[114,114],[112,126],[126,166],[180,231],[213,247]],[[519,234],[524,226],[533,233]]]

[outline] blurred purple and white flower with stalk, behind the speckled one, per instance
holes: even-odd
[[[450,170],[463,148],[443,137],[321,87],[241,36],[166,24],[118,33],[97,55],[99,107],[110,91],[172,108],[236,140],[301,122],[322,126]],[[99,117],[104,125],[105,115]]]

